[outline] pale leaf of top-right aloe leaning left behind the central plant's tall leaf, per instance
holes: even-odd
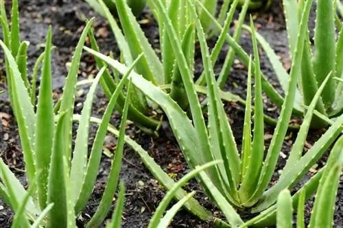
[[[250,31],[250,33],[251,33],[250,27],[243,25],[243,28]],[[276,55],[276,53],[274,52],[274,49],[272,49],[272,47],[270,47],[270,44],[267,42],[267,40],[265,40],[265,38],[263,38],[263,36],[261,36],[261,34],[259,34],[257,31],[255,31],[255,34],[256,34],[257,40],[259,41],[259,44],[261,45],[261,47],[265,51],[265,55],[267,55],[268,59],[270,60],[270,63],[272,64],[272,67],[273,67],[275,75],[276,75],[276,77],[280,83],[281,88],[283,89],[283,91],[287,91],[288,90],[288,84],[289,84],[289,75],[288,75],[286,69],[283,67],[283,64],[279,60],[279,56]],[[304,58],[305,58],[305,56],[304,56]],[[297,88],[296,89],[296,100],[295,100],[294,107],[296,107],[297,110],[302,110],[302,112],[303,112],[303,108],[300,106],[302,104],[303,104],[303,97],[301,96],[300,91]]]

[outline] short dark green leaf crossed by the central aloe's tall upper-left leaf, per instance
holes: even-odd
[[[193,68],[195,42],[196,28],[192,23],[187,27],[187,30],[182,37],[182,51],[183,53],[185,53],[185,58],[187,60],[187,63],[189,64],[189,68]],[[180,71],[178,70],[178,64],[173,64],[173,68],[174,70],[171,78],[170,97],[171,99],[176,101],[178,105],[180,105],[182,110],[186,110],[189,103],[187,100],[185,86],[183,86],[182,77],[180,75]]]

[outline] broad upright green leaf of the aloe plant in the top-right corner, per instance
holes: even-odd
[[[335,77],[335,21],[333,21],[333,1],[318,0],[316,13],[316,29],[314,32],[314,73],[318,85],[322,84],[326,75],[333,71]],[[322,42],[325,40],[325,42]],[[322,92],[326,107],[331,107],[335,99],[335,82],[330,79]]]

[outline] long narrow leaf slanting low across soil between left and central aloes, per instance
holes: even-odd
[[[132,78],[132,82],[133,81],[134,79]],[[74,115],[73,119],[74,121],[78,121],[80,120],[80,116]],[[97,125],[102,123],[102,121],[99,118],[95,118],[95,117],[91,117],[91,122]],[[118,136],[119,134],[119,131],[117,131],[117,129],[115,129],[115,127],[113,127],[112,125],[109,125],[107,130],[111,134],[115,134],[115,136]],[[154,162],[154,160],[152,159],[152,157],[150,157],[147,151],[145,151],[139,144],[137,144],[137,142],[134,142],[134,140],[132,140],[128,136],[125,137],[125,142],[126,144],[128,144],[130,148],[132,148],[134,151],[136,151],[139,154],[145,166],[150,170],[152,175],[154,175],[154,177],[161,183],[161,185],[164,186],[165,189],[170,190],[171,188],[175,186],[176,183],[174,182],[174,180],[171,179],[167,175],[167,173],[165,173],[165,171],[163,171],[161,166],[158,166],[158,164]],[[182,199],[186,195],[187,193],[184,190],[179,189],[175,194],[175,198]],[[198,216],[202,220],[209,221],[213,219],[213,217],[211,216],[211,213],[207,212],[204,209],[204,207],[202,207],[200,203],[196,201],[196,199],[191,199],[187,201],[187,203],[185,203],[185,207],[187,208],[187,210],[189,210],[189,212]]]

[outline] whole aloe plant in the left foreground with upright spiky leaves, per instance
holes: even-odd
[[[14,1],[15,4],[16,1]],[[86,227],[99,227],[110,209],[113,194],[117,188],[123,155],[123,138],[130,99],[128,74],[141,56],[132,63],[131,70],[122,77],[113,92],[88,157],[91,107],[95,89],[106,67],[99,70],[84,102],[75,147],[72,151],[71,132],[75,85],[82,47],[92,21],[93,19],[86,24],[75,48],[57,114],[54,112],[51,85],[51,27],[45,45],[36,110],[32,105],[25,79],[19,70],[20,64],[16,62],[13,51],[11,52],[0,40],[0,46],[5,53],[8,66],[6,77],[11,82],[9,85],[12,95],[10,99],[19,127],[25,174],[29,185],[29,189],[25,190],[10,168],[3,160],[0,160],[0,179],[2,181],[0,197],[18,214],[18,220],[14,223],[16,227],[38,227],[40,225],[43,227],[76,227],[75,218],[82,212],[93,191],[110,116],[112,116],[113,108],[123,86],[128,84],[128,96],[123,107],[115,158],[110,168],[106,189],[97,211]]]

